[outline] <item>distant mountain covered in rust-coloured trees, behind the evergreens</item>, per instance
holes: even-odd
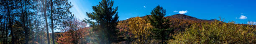
[[[145,20],[147,19],[146,16],[143,16],[141,18]],[[195,24],[195,23],[202,23],[202,22],[210,23],[215,21],[215,20],[201,20],[195,17],[184,15],[184,14],[171,15],[171,16],[164,17],[164,19],[169,19],[169,24],[171,24],[170,28],[174,29],[175,30],[174,32],[184,31],[186,28],[190,27],[192,24]],[[128,20],[129,19],[119,21],[117,28],[120,30],[128,30],[128,22],[129,22]]]

